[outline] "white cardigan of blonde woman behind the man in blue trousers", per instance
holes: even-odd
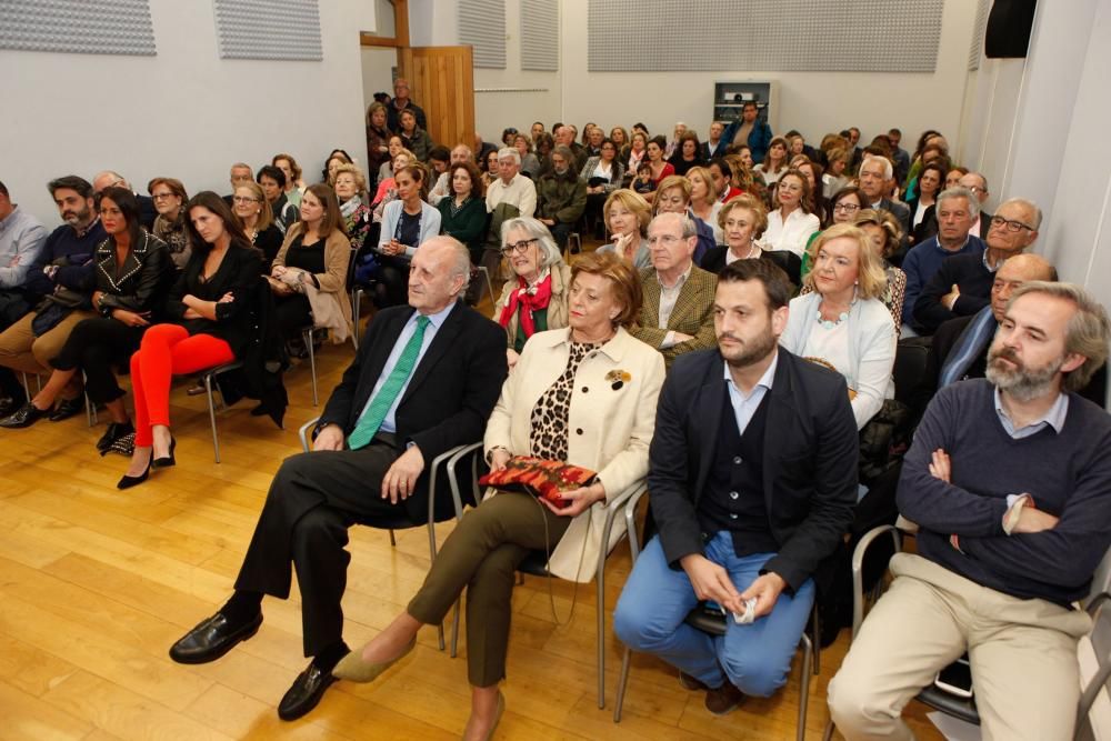
[[[807,341],[818,328],[821,301],[822,296],[817,291],[791,299],[787,329],[779,343],[799,357],[807,354]],[[849,388],[857,392],[852,400],[852,413],[860,430],[880,411],[884,399],[894,398],[892,369],[899,334],[891,321],[891,312],[879,299],[853,303],[847,321],[849,337],[854,341],[849,344],[849,368],[844,375]]]

